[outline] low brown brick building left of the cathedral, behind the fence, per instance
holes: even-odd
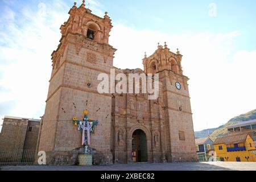
[[[5,117],[0,134],[0,158],[2,162],[32,162],[36,154],[36,145],[40,122],[29,119]],[[32,131],[28,131],[32,127]]]

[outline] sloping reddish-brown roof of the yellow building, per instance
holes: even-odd
[[[213,144],[232,144],[232,143],[244,143],[248,134],[232,135],[228,137],[217,138]]]

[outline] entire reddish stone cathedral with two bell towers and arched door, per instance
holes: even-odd
[[[117,49],[109,45],[111,19],[92,14],[84,2],[69,11],[60,44],[52,53],[52,75],[39,136],[48,164],[71,164],[81,147],[72,117],[100,121],[90,137],[95,163],[197,161],[188,77],[182,55],[165,44],[144,56],[142,69],[113,67]],[[128,53],[128,52],[127,52]],[[159,98],[147,94],[100,94],[100,73],[159,73]],[[74,107],[75,105],[75,107]]]

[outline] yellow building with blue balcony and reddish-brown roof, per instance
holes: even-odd
[[[214,151],[221,161],[256,162],[254,140],[249,134],[238,134],[217,138]]]

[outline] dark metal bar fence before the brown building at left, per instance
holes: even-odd
[[[0,149],[0,166],[31,165],[35,163],[36,150],[19,148]]]

